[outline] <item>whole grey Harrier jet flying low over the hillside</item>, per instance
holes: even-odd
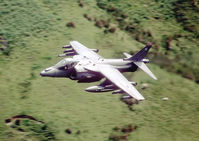
[[[124,53],[123,59],[105,59],[97,54],[98,49],[89,49],[78,41],[71,41],[70,45],[63,46],[64,54],[59,57],[64,58],[56,65],[43,70],[40,75],[45,77],[64,77],[77,80],[78,83],[96,82],[105,79],[96,86],[91,86],[85,90],[88,92],[108,92],[113,94],[124,94],[124,99],[134,98],[138,101],[144,97],[137,91],[136,82],[128,81],[123,72],[134,72],[140,68],[153,79],[155,75],[149,70],[145,63],[149,63],[144,57],[147,55],[152,44],[147,44],[135,55]]]

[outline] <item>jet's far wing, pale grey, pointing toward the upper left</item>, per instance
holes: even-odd
[[[75,52],[77,54],[85,56],[85,57],[87,57],[91,60],[98,60],[98,59],[102,58],[100,55],[98,55],[97,53],[95,53],[91,49],[85,47],[84,45],[82,45],[78,41],[71,41],[70,45],[73,48],[73,50],[75,50]]]

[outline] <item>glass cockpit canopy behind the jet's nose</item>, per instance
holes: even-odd
[[[55,67],[57,69],[69,69],[71,67],[73,67],[76,64],[76,61],[74,61],[72,58],[65,58],[63,60],[61,60],[60,62],[58,62]]]

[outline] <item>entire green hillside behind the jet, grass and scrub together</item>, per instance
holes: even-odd
[[[198,19],[198,0],[0,0],[0,140],[197,141]],[[71,40],[105,58],[152,42],[158,80],[126,74],[146,100],[128,106],[84,91],[99,82],[40,77]]]

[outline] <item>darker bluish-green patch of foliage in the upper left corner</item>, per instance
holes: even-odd
[[[24,38],[47,33],[52,25],[52,16],[35,1],[1,0],[0,34],[13,46],[25,47]],[[9,55],[11,48],[3,54]]]

